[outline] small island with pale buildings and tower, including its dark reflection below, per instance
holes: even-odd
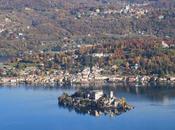
[[[69,110],[75,110],[80,114],[93,116],[103,114],[115,116],[134,108],[127,104],[125,98],[115,97],[112,91],[107,95],[100,90],[77,91],[72,95],[63,93],[62,96],[58,97],[58,105]]]

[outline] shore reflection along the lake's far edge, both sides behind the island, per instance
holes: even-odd
[[[17,89],[17,88],[25,88],[26,90],[56,90],[56,91],[71,91],[71,93],[75,92],[76,90],[82,88],[76,88],[71,86],[36,86],[36,85],[6,85],[1,86],[0,88],[8,88],[8,89]],[[86,88],[87,89],[87,88]],[[91,90],[94,90],[95,87],[91,87]],[[110,91],[114,92],[115,96],[119,97],[130,97],[133,95],[135,98],[145,98],[150,101],[155,102],[164,102],[167,103],[169,100],[175,98],[175,87],[173,86],[150,86],[150,87],[142,87],[142,86],[102,86],[100,89],[104,91],[105,94],[109,94]],[[84,89],[83,89],[84,90]]]

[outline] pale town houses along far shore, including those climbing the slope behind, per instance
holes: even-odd
[[[68,71],[53,70],[52,72],[43,72],[36,67],[27,67],[21,70],[17,76],[0,77],[1,84],[105,84],[105,83],[140,83],[147,84],[150,81],[173,82],[175,77],[158,78],[157,76],[121,76],[121,75],[105,75],[102,74],[103,69],[94,66],[86,67],[83,71],[71,74]]]

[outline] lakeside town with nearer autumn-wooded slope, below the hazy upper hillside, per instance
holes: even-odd
[[[149,51],[152,47],[156,51],[155,44],[152,44],[152,40],[150,42]],[[132,49],[131,52],[127,51],[125,54],[125,52],[119,50],[118,46],[120,44],[127,45],[127,42],[117,43],[116,45],[86,45],[77,50],[57,53],[21,54],[19,57],[13,57],[0,64],[0,84],[24,83],[58,86],[134,84],[147,86],[157,83],[174,85],[174,66],[169,66],[174,62],[169,60],[170,64],[163,64],[164,60],[167,60],[165,58],[173,59],[174,56],[167,53],[167,51],[174,51],[174,46],[172,46],[174,43],[171,44],[170,41],[169,44],[164,41],[157,42],[159,42],[157,43],[158,54],[156,54],[156,58],[151,58],[152,61],[146,61],[145,57],[142,59],[141,55],[126,59],[132,53]],[[141,46],[141,52],[145,51],[144,53],[148,53],[149,56],[150,52],[142,50],[142,46],[145,47],[144,43],[138,40],[137,42],[134,41],[133,44]],[[148,43],[146,44],[148,45]],[[126,46],[126,48],[128,47]],[[126,48],[123,47],[122,49],[125,50]],[[158,55],[161,55],[161,57],[158,57]],[[166,69],[164,69],[165,67]]]

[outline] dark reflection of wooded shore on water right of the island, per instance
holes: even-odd
[[[113,90],[116,94],[125,93],[135,95],[137,97],[146,98],[151,101],[168,102],[175,98],[175,87],[172,86],[152,86],[152,87],[105,87],[106,91]]]

